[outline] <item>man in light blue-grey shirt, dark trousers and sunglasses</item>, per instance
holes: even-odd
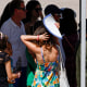
[[[1,26],[1,32],[9,37],[9,41],[12,46],[13,54],[11,55],[13,60],[13,70],[17,67],[17,60],[21,59],[21,78],[15,79],[15,84],[13,87],[26,87],[26,67],[27,67],[27,59],[25,49],[26,47],[21,41],[20,36],[25,35],[24,24],[22,22],[23,18],[26,17],[26,10],[23,0],[13,0],[10,3],[10,12],[11,17],[5,21]],[[15,71],[16,72],[16,71]]]

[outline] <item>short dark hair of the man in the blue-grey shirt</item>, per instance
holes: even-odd
[[[21,7],[21,3],[24,3],[23,0],[13,0],[10,4],[11,16],[14,14],[14,10]]]

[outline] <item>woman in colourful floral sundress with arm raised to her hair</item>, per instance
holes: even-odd
[[[45,26],[39,26],[34,35],[22,35],[21,39],[36,55],[37,69],[32,87],[60,87],[57,38]]]

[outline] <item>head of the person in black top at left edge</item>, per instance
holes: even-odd
[[[7,48],[8,36],[0,32],[0,50],[4,50]]]

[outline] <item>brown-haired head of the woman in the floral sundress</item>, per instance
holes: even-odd
[[[41,25],[38,28],[36,28],[34,35],[37,36],[37,35],[42,35],[45,33],[47,33],[49,35],[49,37],[50,37],[49,40],[47,40],[47,41],[39,41],[39,42],[37,41],[37,44],[39,46],[42,46],[42,45],[53,46],[53,45],[55,45],[57,44],[55,37],[53,35],[51,35],[44,25]]]

